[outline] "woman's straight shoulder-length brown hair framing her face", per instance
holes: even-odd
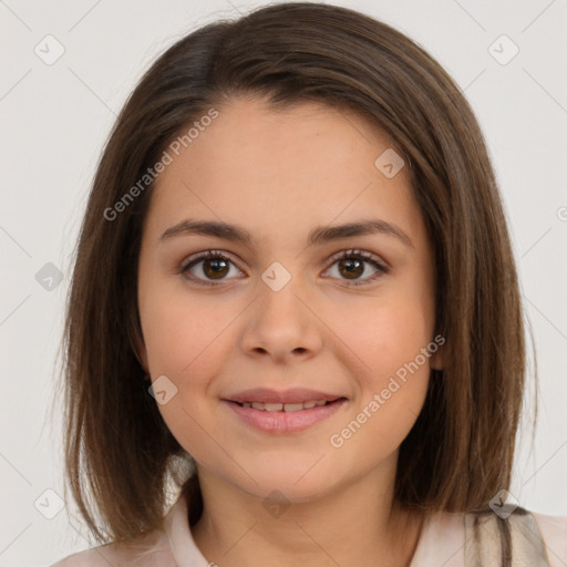
[[[175,462],[192,462],[136,354],[137,260],[153,185],[112,220],[105,212],[179,132],[248,95],[266,95],[274,110],[316,101],[354,111],[406,158],[434,247],[436,332],[446,343],[444,370],[432,370],[400,447],[395,498],[424,512],[485,508],[509,487],[526,357],[518,278],[480,126],[458,86],[411,39],[350,9],[293,2],[177,41],[142,78],[106,143],[64,336],[66,477],[89,528],[105,540],[95,509],[114,542],[159,527],[168,475],[175,480]],[[189,471],[175,482],[189,494],[193,524],[202,502]]]

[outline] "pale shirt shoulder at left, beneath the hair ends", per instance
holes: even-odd
[[[153,532],[131,544],[106,544],[69,555],[50,567],[177,567],[165,534]]]

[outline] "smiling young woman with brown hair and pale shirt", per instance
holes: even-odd
[[[483,135],[367,16],[270,6],[152,65],[65,349],[69,483],[105,545],[56,567],[567,561],[567,518],[507,492],[526,359]]]

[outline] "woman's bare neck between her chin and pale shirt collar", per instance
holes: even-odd
[[[408,567],[423,517],[399,506],[393,484],[380,482],[380,474],[310,502],[271,506],[270,513],[262,498],[199,474],[204,512],[192,535],[220,567],[370,567],[377,558],[382,567]]]

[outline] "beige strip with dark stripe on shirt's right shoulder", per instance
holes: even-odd
[[[536,519],[522,507],[465,515],[465,567],[550,567]],[[506,549],[512,558],[506,560]]]

